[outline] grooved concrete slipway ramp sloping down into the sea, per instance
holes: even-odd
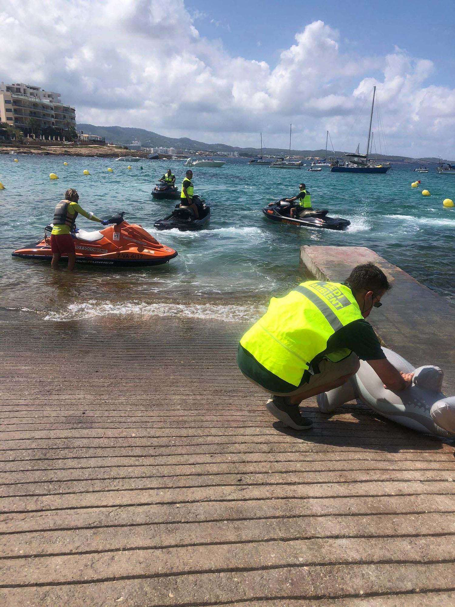
[[[453,447],[265,410],[239,324],[2,323],[0,604],[455,604]]]

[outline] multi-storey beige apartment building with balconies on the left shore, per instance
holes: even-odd
[[[0,121],[27,129],[33,118],[39,129],[67,131],[76,127],[76,110],[62,103],[60,93],[30,84],[0,83]]]

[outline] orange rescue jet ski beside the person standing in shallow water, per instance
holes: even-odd
[[[109,221],[114,225],[99,231],[76,229],[72,232],[72,237],[75,239],[76,263],[116,266],[159,265],[177,256],[177,251],[161,245],[142,226],[127,223],[123,215],[124,212],[113,215]],[[12,256],[50,261],[52,259],[51,231],[52,225],[46,226],[42,240],[35,245],[17,249]],[[62,259],[65,259],[64,255]]]

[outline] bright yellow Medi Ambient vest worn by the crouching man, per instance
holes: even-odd
[[[359,304],[346,285],[309,280],[285,297],[272,297],[269,308],[240,340],[263,367],[296,387],[329,337],[362,319]],[[351,354],[343,348],[326,354],[332,362]]]

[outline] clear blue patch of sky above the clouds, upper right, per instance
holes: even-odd
[[[320,19],[339,30],[340,42],[356,55],[387,55],[394,47],[431,59],[433,84],[455,83],[455,0],[189,0],[195,25],[220,38],[231,55],[275,66],[306,24]]]

